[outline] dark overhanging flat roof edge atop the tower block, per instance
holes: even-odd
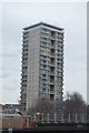
[[[39,22],[39,23],[36,23],[36,24],[32,24],[30,27],[23,28],[23,30],[29,30],[29,29],[36,28],[38,25],[46,25],[46,27],[53,28],[53,29],[57,29],[57,30],[63,30],[62,28],[58,28],[58,27],[55,27],[52,24],[48,24],[48,23],[44,23],[44,22]]]

